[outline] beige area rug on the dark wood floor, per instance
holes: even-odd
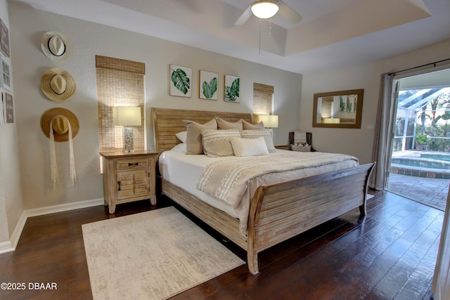
[[[245,263],[174,207],[82,230],[95,300],[167,299]]]

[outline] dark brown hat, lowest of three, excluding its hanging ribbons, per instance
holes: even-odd
[[[53,120],[53,122],[52,122]],[[69,141],[69,123],[74,138],[79,129],[77,117],[62,107],[46,110],[41,116],[41,129],[47,138],[50,137],[50,126],[53,128],[53,137],[56,142]]]

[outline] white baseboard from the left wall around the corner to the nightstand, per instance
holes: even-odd
[[[27,209],[23,211],[17,225],[14,228],[13,234],[11,235],[11,241],[0,243],[0,253],[11,252],[15,250],[22,234],[25,223],[27,219],[32,216],[43,216],[45,214],[54,214],[62,211],[71,211],[74,209],[84,209],[87,207],[96,207],[97,205],[103,205],[103,198],[86,200],[68,204],[53,205],[51,207],[41,207],[39,209]]]

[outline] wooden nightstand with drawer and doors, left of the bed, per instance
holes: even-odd
[[[117,204],[149,199],[156,204],[155,166],[158,152],[100,152],[103,160],[105,205],[114,214]]]

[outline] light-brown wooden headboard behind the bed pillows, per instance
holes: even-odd
[[[220,117],[228,122],[237,122],[245,119],[252,122],[252,114],[242,112],[209,112],[204,110],[174,110],[170,108],[152,108],[153,138],[155,139],[155,151],[162,153],[170,150],[180,143],[175,133],[186,131],[183,120],[191,120],[205,124],[214,117]]]

